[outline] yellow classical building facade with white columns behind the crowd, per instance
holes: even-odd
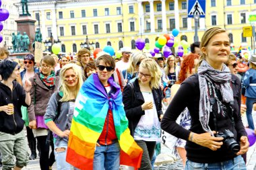
[[[77,52],[87,41],[94,48],[111,45],[135,49],[137,38],[150,42],[170,34],[177,28],[180,40],[192,43],[195,21],[187,17],[186,0],[30,0],[29,11],[38,22],[42,38],[51,33],[61,41],[63,52]],[[20,7],[21,10],[21,7]],[[232,46],[251,46],[251,38],[243,38],[243,27],[250,26],[248,14],[256,12],[256,0],[206,0],[205,18],[199,18],[198,36],[207,28],[220,26],[230,36]],[[88,37],[88,40],[86,40]]]

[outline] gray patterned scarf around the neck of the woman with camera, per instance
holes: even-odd
[[[201,122],[203,130],[212,134],[212,130],[208,125],[212,108],[210,105],[210,96],[208,95],[209,89],[207,87],[207,81],[211,83],[219,83],[222,100],[226,103],[229,103],[231,101],[234,101],[233,91],[230,87],[231,73],[226,65],[223,65],[222,71],[218,71],[212,68],[208,64],[208,62],[203,60],[203,62],[201,62],[201,65],[198,67],[198,76],[200,88],[199,120]],[[214,97],[216,97],[216,94],[214,94]],[[217,102],[217,104],[218,108],[220,108],[220,103]],[[221,110],[218,110],[218,114],[220,114],[220,112]]]

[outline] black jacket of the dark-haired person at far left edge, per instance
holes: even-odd
[[[14,114],[8,115],[0,112],[0,132],[7,134],[18,134],[24,128],[24,120],[22,120],[22,105],[28,107],[25,103],[26,93],[23,87],[13,81],[13,91],[0,82],[0,106],[13,103]]]

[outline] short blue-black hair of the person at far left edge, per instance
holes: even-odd
[[[7,81],[7,79],[9,79],[17,65],[18,62],[12,60],[3,60],[0,63],[0,75],[4,81]]]

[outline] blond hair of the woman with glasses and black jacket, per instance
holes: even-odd
[[[148,69],[150,71],[151,80],[150,80],[150,88],[158,89],[160,88],[160,79],[161,79],[161,71],[160,67],[156,63],[156,61],[152,58],[144,58],[141,60],[139,68]]]

